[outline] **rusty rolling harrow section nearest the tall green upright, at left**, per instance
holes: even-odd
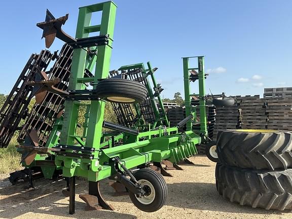
[[[49,80],[59,81],[54,87],[60,90],[67,90],[72,53],[72,48],[65,44],[48,74]],[[55,120],[62,115],[64,108],[63,103],[64,98],[59,94],[49,91],[46,92],[43,101],[40,104],[34,104],[31,114],[27,118],[26,123],[19,134],[18,142],[24,142],[27,137],[27,131],[30,132],[31,130],[36,130],[39,136],[39,146],[45,147]]]

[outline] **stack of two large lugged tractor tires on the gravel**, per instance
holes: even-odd
[[[240,205],[292,209],[292,133],[225,130],[217,135],[216,187]]]

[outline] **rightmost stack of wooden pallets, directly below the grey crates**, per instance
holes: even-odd
[[[292,98],[266,99],[268,129],[292,130]]]

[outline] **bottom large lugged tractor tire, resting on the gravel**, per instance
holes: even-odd
[[[218,191],[240,205],[292,209],[292,170],[266,171],[216,165]]]

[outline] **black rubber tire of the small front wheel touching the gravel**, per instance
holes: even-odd
[[[133,204],[137,208],[145,212],[154,212],[159,210],[165,204],[168,194],[168,189],[164,178],[156,171],[149,168],[138,170],[134,173],[134,176],[137,181],[143,179],[148,180],[155,190],[155,197],[151,203],[144,204],[138,200],[139,198],[137,198],[134,193],[129,192],[129,196]]]

